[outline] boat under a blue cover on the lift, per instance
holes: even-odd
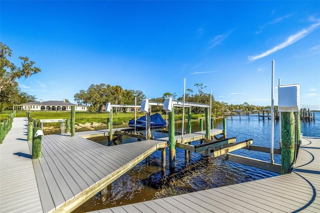
[[[134,127],[134,120],[129,120],[129,126]],[[145,129],[145,116],[142,116],[136,120],[136,129]],[[150,116],[150,128],[162,128],[166,126],[165,120],[161,114],[155,113]]]

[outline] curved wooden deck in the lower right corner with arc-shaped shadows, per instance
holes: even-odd
[[[303,137],[289,174],[94,212],[320,212],[320,138]]]

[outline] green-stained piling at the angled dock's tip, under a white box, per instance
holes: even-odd
[[[169,167],[175,168],[174,107],[169,112]]]

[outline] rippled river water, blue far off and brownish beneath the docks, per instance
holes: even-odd
[[[271,120],[257,116],[233,116],[227,119],[227,137],[236,137],[237,141],[252,138],[254,145],[270,146]],[[181,129],[181,123],[176,124]],[[186,124],[184,126],[187,126]],[[199,122],[192,122],[192,131],[199,130]],[[215,128],[222,128],[222,119],[214,120]],[[186,128],[186,127],[185,127]],[[315,113],[315,121],[302,122],[303,136],[320,137],[320,112]],[[155,138],[167,136],[165,133],[151,132]],[[103,142],[103,138],[95,138]],[[136,141],[125,137],[125,142]],[[198,144],[194,141],[193,144]],[[274,122],[274,147],[279,147],[279,123]],[[269,153],[248,151],[244,149],[232,153],[249,156],[261,160],[270,160]],[[168,160],[168,151],[166,151]],[[274,161],[280,163],[280,155],[274,155]],[[184,150],[176,149],[176,168],[169,170],[161,168],[161,152],[150,155],[150,165],[143,160],[127,171],[107,187],[107,193],[95,194],[74,212],[97,210],[117,205],[129,204],[160,197],[172,196],[192,191],[198,191],[223,185],[230,185],[250,180],[278,175],[277,173],[242,165],[222,159],[191,152],[190,160],[185,162]]]

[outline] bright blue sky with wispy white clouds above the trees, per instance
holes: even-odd
[[[43,101],[99,83],[182,96],[185,78],[218,101],[270,105],[274,60],[274,85],[299,83],[300,107],[320,109],[320,1],[1,0],[0,13],[11,61],[41,68],[20,88]]]

